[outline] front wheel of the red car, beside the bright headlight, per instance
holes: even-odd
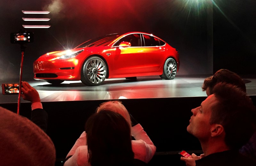
[[[100,57],[88,58],[81,70],[81,81],[88,86],[98,86],[107,76],[107,65]]]

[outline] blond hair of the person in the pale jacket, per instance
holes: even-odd
[[[117,101],[117,100],[109,101],[109,102],[103,102],[97,108],[96,112],[100,112],[101,110],[104,110],[104,109],[108,109],[110,111],[117,112],[117,113],[121,114],[126,119],[128,124],[132,125],[130,114],[127,111],[127,109],[124,107],[122,102]]]

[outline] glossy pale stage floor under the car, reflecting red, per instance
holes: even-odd
[[[85,86],[81,81],[64,81],[59,86],[37,80],[28,83],[38,91],[42,102],[199,97],[206,96],[201,87],[208,76],[210,75],[177,75],[172,80],[162,80],[159,76],[138,77],[136,81],[124,78],[106,79],[104,84],[96,87]],[[256,77],[242,78],[246,83],[247,94],[256,95]],[[18,95],[0,95],[0,103],[17,101]],[[27,101],[21,99],[21,102]]]

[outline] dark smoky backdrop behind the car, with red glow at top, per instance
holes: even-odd
[[[1,0],[0,80],[19,78],[20,46],[10,43],[10,33],[20,29],[35,33],[35,41],[27,44],[24,54],[24,79],[33,78],[33,62],[47,52],[129,31],[152,33],[178,49],[179,75],[212,74],[220,68],[253,74],[255,8],[255,0]],[[51,12],[24,14],[22,10]]]

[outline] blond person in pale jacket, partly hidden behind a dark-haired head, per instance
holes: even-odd
[[[128,122],[131,128],[131,135],[135,140],[130,140],[132,142],[132,151],[134,152],[134,159],[138,159],[145,163],[148,163],[156,152],[156,146],[148,137],[147,133],[144,131],[142,126],[129,114],[127,109],[124,107],[122,102],[120,101],[109,101],[101,103],[97,108],[96,112],[100,112],[101,110],[110,110],[122,115],[125,120]],[[118,125],[118,124],[116,124]],[[81,136],[76,140],[76,143],[68,152],[66,157],[66,161],[64,166],[72,166],[76,165],[75,163],[84,163],[83,158],[87,157],[87,146],[86,145],[86,133],[85,130]],[[107,134],[109,135],[109,134]],[[80,150],[78,151],[78,147]],[[81,150],[83,149],[83,150]],[[76,158],[75,156],[81,156],[80,158]]]

